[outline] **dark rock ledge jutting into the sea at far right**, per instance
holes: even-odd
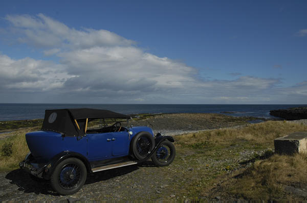
[[[295,107],[270,111],[270,115],[286,120],[307,119],[307,107]]]

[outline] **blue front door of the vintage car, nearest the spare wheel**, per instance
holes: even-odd
[[[111,133],[112,156],[122,157],[129,154],[129,133],[127,130]]]

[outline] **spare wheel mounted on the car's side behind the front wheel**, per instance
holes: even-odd
[[[153,136],[148,132],[140,132],[133,138],[131,147],[134,156],[138,160],[142,160],[149,155],[153,148],[155,148],[155,139],[153,139]]]

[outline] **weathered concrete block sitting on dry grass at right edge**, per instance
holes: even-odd
[[[307,132],[296,132],[274,140],[275,152],[293,155],[307,152]]]

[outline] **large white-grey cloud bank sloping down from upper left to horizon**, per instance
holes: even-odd
[[[59,62],[0,55],[2,94],[33,92],[50,103],[255,104],[272,102],[281,92],[300,97],[307,89],[305,83],[280,89],[279,79],[251,76],[202,80],[197,69],[146,53],[134,41],[106,30],[69,28],[43,14],[5,19],[17,41],[39,47]]]

